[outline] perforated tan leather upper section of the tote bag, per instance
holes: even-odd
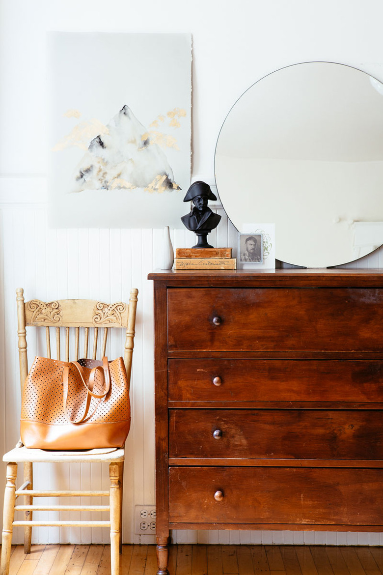
[[[79,360],[86,374],[86,381],[92,367],[102,362]],[[64,415],[63,385],[60,382],[64,362],[54,359],[36,357],[25,380],[21,405],[21,419],[38,421],[48,424],[68,424]],[[109,363],[111,385],[110,390],[102,399],[92,397],[88,416],[82,423],[114,423],[130,419],[130,403],[125,365],[122,358]],[[99,371],[95,372],[93,391],[103,392]],[[67,415],[76,420],[82,415],[87,398],[79,371],[75,366],[69,366]]]

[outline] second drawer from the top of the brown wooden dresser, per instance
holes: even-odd
[[[169,401],[383,401],[383,361],[169,359]]]

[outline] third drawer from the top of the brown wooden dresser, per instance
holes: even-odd
[[[169,457],[383,459],[383,412],[171,409]]]

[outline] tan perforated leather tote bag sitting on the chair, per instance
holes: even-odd
[[[63,362],[36,357],[24,384],[20,428],[26,447],[122,447],[130,428],[123,359]]]

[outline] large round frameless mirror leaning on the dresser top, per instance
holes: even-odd
[[[276,257],[351,262],[383,243],[383,85],[343,64],[277,70],[231,108],[215,151],[235,227],[274,223]]]

